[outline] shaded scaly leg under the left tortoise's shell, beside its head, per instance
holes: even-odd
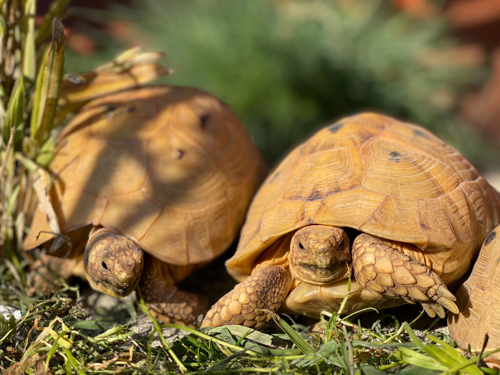
[[[167,323],[198,325],[201,322],[208,310],[206,300],[175,285],[194,268],[173,266],[144,254],[144,269],[138,286],[154,317]]]

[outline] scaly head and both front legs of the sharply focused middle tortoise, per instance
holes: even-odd
[[[288,263],[282,263],[284,257],[278,258],[279,249],[270,253],[251,276],[212,306],[202,326],[258,328],[271,318],[262,309],[276,311],[295,279],[310,284],[335,282],[351,270],[349,239],[341,228],[307,225],[293,234],[289,246]],[[443,306],[457,311],[455,297],[425,264],[430,265],[430,259],[418,247],[362,233],[352,243],[351,252],[353,274],[362,288],[409,303],[418,301],[430,316],[444,316]]]

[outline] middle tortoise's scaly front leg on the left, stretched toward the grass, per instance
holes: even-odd
[[[258,328],[271,319],[288,294],[292,277],[288,267],[262,265],[215,303],[207,312],[202,327],[241,324]]]

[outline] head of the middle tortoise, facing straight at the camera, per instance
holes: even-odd
[[[349,237],[343,229],[329,225],[298,229],[288,256],[292,275],[313,284],[345,278],[352,267]]]

